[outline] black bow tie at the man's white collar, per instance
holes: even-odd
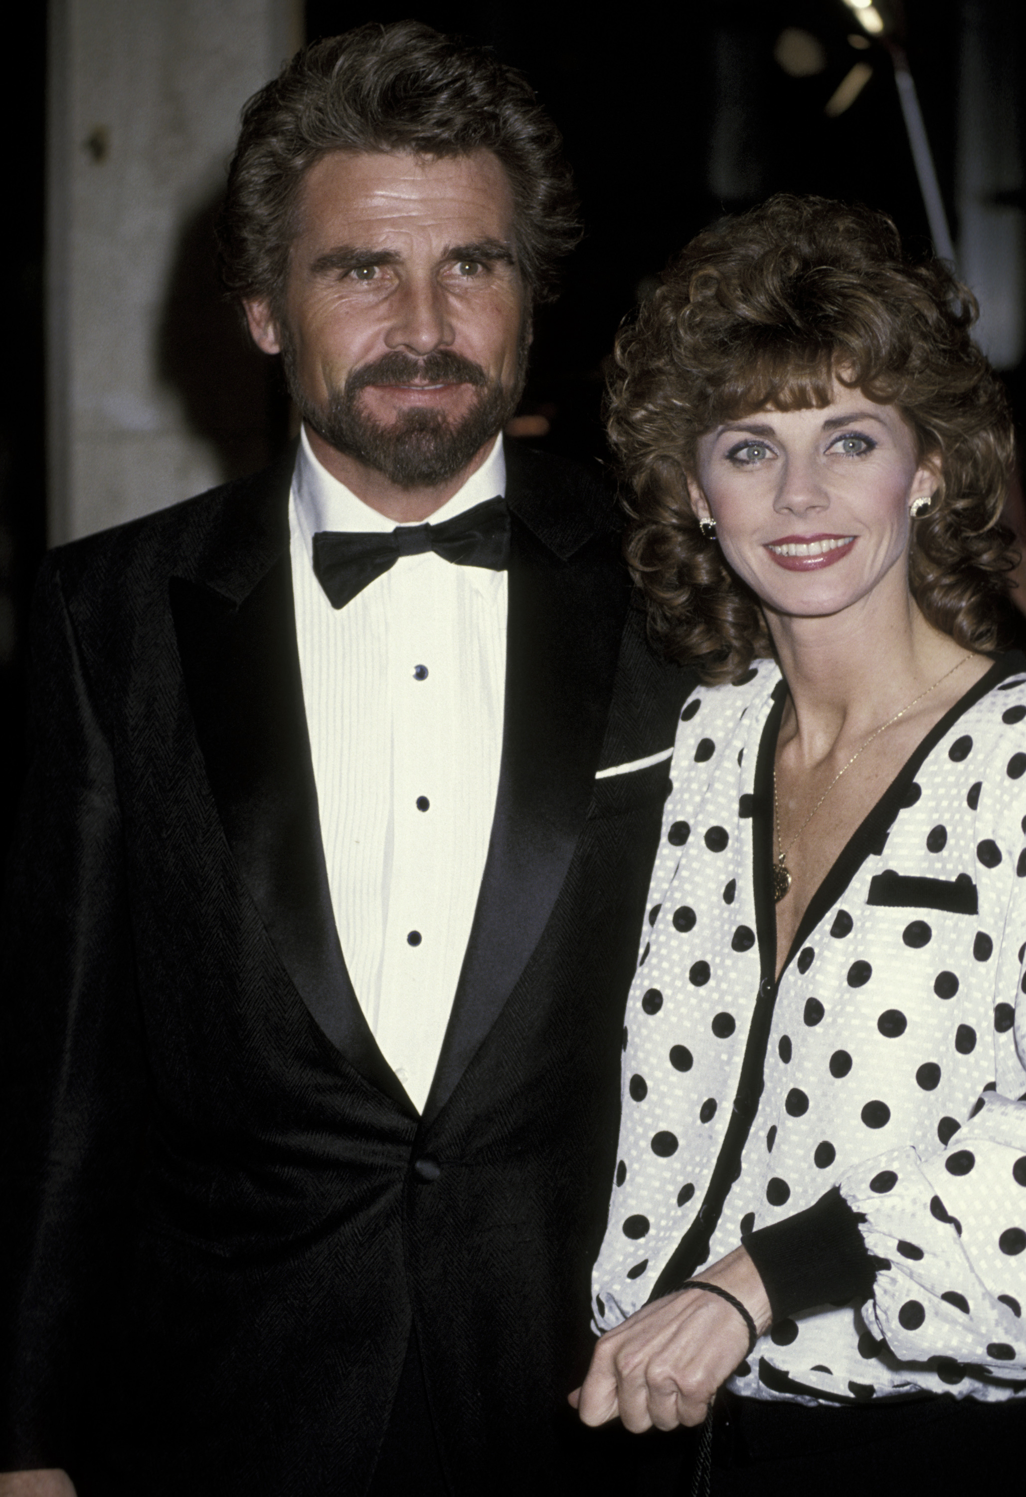
[[[510,560],[510,512],[504,499],[443,519],[440,525],[398,525],[390,534],[319,530],[314,536],[314,572],[332,608],[351,603],[399,557],[435,551],[458,566],[485,566],[503,572]]]

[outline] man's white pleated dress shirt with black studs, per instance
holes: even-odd
[[[497,437],[431,524],[504,493]],[[423,1109],[495,814],[507,575],[399,557],[334,609],[313,570],[314,534],[393,528],[328,473],[304,430],[289,533],[328,882],[356,997]]]

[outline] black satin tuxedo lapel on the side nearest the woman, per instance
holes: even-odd
[[[459,1078],[516,987],[562,888],[591,799],[628,590],[607,531],[555,551],[540,515],[510,500],[503,759],[492,838],[425,1120]],[[573,554],[567,551],[577,545]]]

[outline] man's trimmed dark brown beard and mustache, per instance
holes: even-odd
[[[455,478],[480,452],[516,410],[526,376],[529,328],[520,334],[513,385],[504,388],[489,380],[479,364],[447,349],[422,359],[398,349],[372,364],[354,368],[342,389],[331,389],[328,401],[316,406],[302,389],[292,340],[283,337],[283,365],[289,394],[304,421],[329,446],[366,467],[383,473],[399,488],[434,488]],[[470,409],[458,421],[437,410],[407,410],[387,425],[374,421],[360,403],[368,385],[464,383],[477,391]]]

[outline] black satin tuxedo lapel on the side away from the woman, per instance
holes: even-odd
[[[253,521],[251,521],[253,524]],[[254,527],[256,528],[256,527]],[[268,548],[272,549],[272,548]],[[296,648],[287,530],[257,581],[172,578],[182,672],[221,825],[313,1018],[368,1081],[414,1112],[363,1018],[338,942]],[[226,572],[233,575],[226,582]],[[253,567],[250,567],[250,572]],[[236,597],[224,596],[229,588]],[[238,597],[242,591],[244,596]]]

